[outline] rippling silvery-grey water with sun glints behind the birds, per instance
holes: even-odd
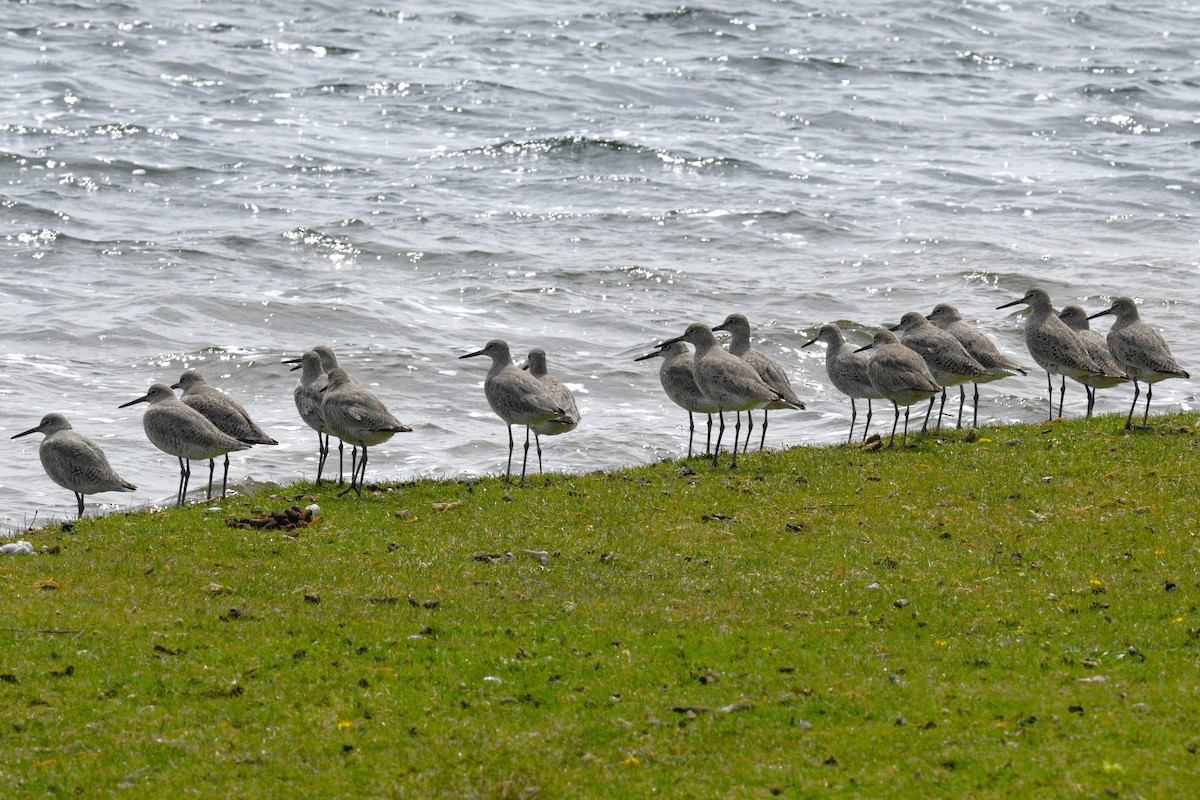
[[[116,407],[193,367],[281,441],[238,481],[311,476],[280,361],[325,342],[414,428],[371,477],[494,473],[486,365],[457,356],[503,337],[584,415],[548,467],[647,462],[686,420],[632,359],[742,311],[809,403],[769,444],[830,443],[821,324],[865,342],[950,301],[1028,362],[995,307],[1034,283],[1135,295],[1200,365],[1192,2],[424,6],[6,4],[5,437],[62,411],[140,487],[98,501],[162,501],[175,459]],[[1040,419],[1044,380],[980,419]],[[37,438],[0,459],[5,527],[73,512]]]

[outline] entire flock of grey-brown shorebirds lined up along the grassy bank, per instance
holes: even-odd
[[[1104,311],[1087,314],[1079,306],[1067,306],[1055,312],[1050,296],[1043,289],[1030,289],[1020,300],[998,306],[1008,308],[1024,303],[1028,306],[1025,321],[1025,343],[1030,356],[1046,372],[1050,419],[1054,419],[1054,375],[1061,377],[1058,389],[1058,415],[1067,378],[1084,384],[1087,391],[1087,416],[1092,415],[1096,390],[1133,381],[1134,396],[1126,417],[1126,428],[1133,425],[1140,395],[1139,383],[1146,384],[1146,408],[1142,425],[1150,415],[1153,384],[1166,378],[1188,378],[1188,373],[1171,355],[1163,337],[1141,321],[1138,306],[1130,297],[1116,297]],[[1106,337],[1090,330],[1088,320],[1112,314],[1116,321]],[[722,348],[714,331],[731,335],[728,348]],[[929,426],[935,398],[941,395],[937,427],[941,427],[946,408],[946,390],[959,386],[958,426],[962,425],[967,383],[974,384],[974,419],[978,423],[979,384],[998,380],[1027,369],[1004,356],[979,330],[962,320],[954,306],[941,303],[929,315],[908,312],[900,324],[880,330],[870,344],[853,348],[846,343],[836,325],[824,325],[816,337],[805,342],[809,347],[826,344],[826,369],[833,385],[850,397],[851,421],[847,441],[853,439],[858,417],[856,399],[868,403],[863,439],[871,423],[871,401],[886,399],[893,404],[895,417],[892,423],[889,445],[895,444],[900,409],[904,408],[904,433],[901,444],[907,443],[908,413],[911,407],[929,401],[922,431]],[[692,349],[688,349],[688,344]],[[512,426],[526,428],[524,457],[521,480],[524,480],[529,457],[529,438],[533,434],[538,452],[538,469],[541,470],[541,435],[557,435],[574,429],[580,422],[580,411],[570,390],[546,369],[546,354],[540,348],[530,350],[523,367],[512,361],[509,345],[503,339],[492,339],[481,350],[460,356],[470,359],[487,356],[491,368],[484,380],[484,395],[491,409],[508,426],[509,459],[505,480],[512,473],[515,441]],[[786,371],[770,357],[754,349],[750,341],[750,323],[743,314],[730,314],[724,323],[709,327],[694,323],[674,338],[661,342],[656,349],[637,359],[644,361],[660,357],[659,379],[667,397],[688,411],[688,456],[692,456],[695,437],[694,414],[708,415],[706,453],[716,464],[725,434],[725,411],[734,411],[731,465],[737,465],[742,429],[742,411],[746,413],[748,429],[742,450],[749,447],[754,422],[750,411],[762,410],[760,450],[767,437],[767,414],[773,409],[803,409],[804,403],[787,379]],[[367,449],[390,439],[396,433],[410,431],[388,411],[383,402],[361,383],[340,367],[334,351],[325,345],[316,347],[299,359],[286,363],[296,365],[301,371],[294,391],[300,419],[317,432],[318,461],[317,482],[322,480],[325,462],[330,455],[330,437],[338,439],[338,482],[344,481],[342,456],[346,444],[352,446],[350,482],[340,494],[350,491],[362,497],[366,477]],[[182,390],[175,395],[176,389]],[[221,494],[224,497],[229,476],[229,453],[246,450],[252,445],[277,444],[251,420],[246,410],[229,396],[205,383],[196,371],[184,372],[174,385],[154,384],[142,397],[124,403],[126,408],[148,403],[142,417],[146,438],[179,459],[179,491],[176,501],[184,504],[191,476],[192,461],[209,462],[208,497],[212,495],[212,477],[216,458],[224,456],[224,473]],[[718,416],[719,429],[715,447],[712,444],[713,415]],[[72,429],[61,414],[47,414],[37,427],[12,437],[32,433],[44,434],[40,446],[42,467],[59,486],[71,489],[83,516],[84,495],[100,492],[132,492],[137,487],[121,479],[109,465],[104,453],[86,437]],[[361,455],[359,451],[361,450]]]

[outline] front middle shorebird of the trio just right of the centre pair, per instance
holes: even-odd
[[[676,342],[688,342],[696,348],[692,356],[692,374],[696,385],[716,404],[716,417],[720,427],[716,431],[716,446],[713,449],[713,464],[721,452],[721,437],[725,435],[725,411],[738,411],[738,422],[733,427],[733,461],[738,465],[738,438],[742,435],[742,411],[766,408],[770,403],[781,402],[786,408],[796,408],[787,399],[762,381],[758,373],[749,363],[724,349],[716,343],[713,330],[703,323],[692,323],[673,339],[667,339],[659,347]]]

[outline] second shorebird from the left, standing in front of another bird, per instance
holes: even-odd
[[[121,403],[128,408],[149,403],[142,415],[142,427],[155,447],[179,458],[179,494],[176,501],[184,505],[187,481],[192,476],[193,461],[206,461],[234,450],[250,450],[250,444],[239,441],[209,422],[203,414],[175,397],[167,384],[154,384],[142,397]],[[212,497],[211,471],[209,473],[209,498]]]

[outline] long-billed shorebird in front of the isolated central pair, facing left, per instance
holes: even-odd
[[[559,405],[547,392],[546,385],[528,372],[512,363],[509,343],[504,339],[492,339],[482,350],[475,350],[460,359],[474,359],[486,355],[492,360],[492,368],[484,379],[484,396],[487,404],[509,428],[509,463],[504,469],[504,480],[511,480],[512,474],[512,426],[526,426],[526,450],[521,461],[521,482],[524,482],[526,465],[529,462],[529,428],[557,420],[559,425],[574,427],[578,420],[571,417],[568,410]]]

